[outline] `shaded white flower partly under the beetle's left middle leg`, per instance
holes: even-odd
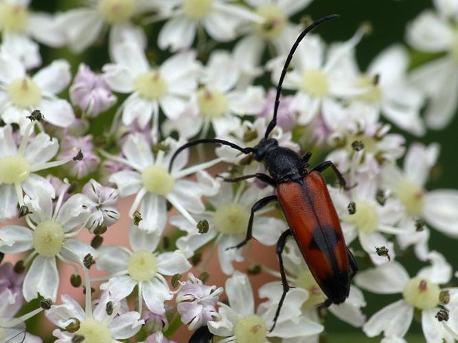
[[[234,272],[232,263],[243,261],[242,249],[227,250],[227,248],[243,241],[247,234],[251,206],[269,193],[272,193],[272,190],[268,187],[259,189],[255,185],[245,187],[244,184],[240,184],[234,193],[230,183],[223,183],[216,196],[207,198],[213,209],[197,217],[209,223],[207,233],[198,233],[196,226],[181,216],[170,218],[171,224],[187,232],[186,236],[176,241],[176,246],[183,250],[195,251],[215,239],[214,244],[218,245],[221,270],[227,275],[232,274]],[[273,246],[281,233],[286,230],[286,224],[275,217],[264,215],[268,211],[271,209],[264,208],[256,211],[253,220],[253,237],[262,244]]]

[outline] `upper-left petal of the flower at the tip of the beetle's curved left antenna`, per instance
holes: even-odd
[[[154,163],[150,144],[143,134],[130,134],[122,145],[122,153],[137,170]]]

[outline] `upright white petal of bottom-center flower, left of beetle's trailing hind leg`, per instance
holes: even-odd
[[[227,279],[225,290],[229,305],[234,311],[242,316],[254,313],[253,288],[251,288],[247,275],[236,271],[233,276]]]

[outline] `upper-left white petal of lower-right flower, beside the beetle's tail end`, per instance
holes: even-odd
[[[409,279],[404,267],[396,261],[364,270],[355,277],[356,285],[377,294],[400,293]]]

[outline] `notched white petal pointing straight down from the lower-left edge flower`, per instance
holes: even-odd
[[[23,295],[26,301],[38,297],[56,301],[59,274],[55,257],[35,257],[30,270],[25,275]]]

